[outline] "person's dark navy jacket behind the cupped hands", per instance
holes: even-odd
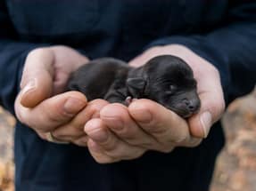
[[[255,0],[2,0],[0,26],[0,104],[12,114],[28,52],[53,44],[121,60],[184,44],[219,69],[227,103],[256,82]],[[18,123],[16,190],[207,190],[223,143],[217,123],[199,147],[98,164],[87,148],[45,142]]]

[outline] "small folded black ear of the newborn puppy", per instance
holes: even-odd
[[[130,77],[127,79],[128,92],[133,98],[140,98],[145,92],[146,81],[142,77]]]

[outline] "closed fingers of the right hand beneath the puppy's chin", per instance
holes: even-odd
[[[149,99],[137,99],[129,107],[109,104],[100,118],[87,122],[85,131],[87,146],[98,163],[134,159],[147,150],[168,153],[201,141],[190,135],[184,119]]]

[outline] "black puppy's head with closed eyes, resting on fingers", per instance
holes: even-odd
[[[184,60],[162,55],[149,60],[142,69],[142,77],[127,81],[133,97],[153,99],[185,118],[198,111],[196,81]]]

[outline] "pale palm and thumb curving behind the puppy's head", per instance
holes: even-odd
[[[154,56],[163,54],[178,56],[192,68],[194,78],[197,81],[197,92],[201,99],[201,108],[196,115],[188,119],[188,125],[194,137],[206,138],[211,125],[219,120],[225,109],[218,69],[209,61],[202,59],[202,57],[179,44],[153,47],[131,60],[129,64],[139,67]]]

